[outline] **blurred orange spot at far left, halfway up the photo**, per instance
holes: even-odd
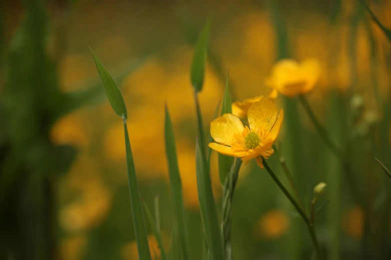
[[[86,148],[89,139],[83,122],[83,118],[75,113],[60,118],[50,130],[50,140],[57,145],[73,144],[79,148]]]

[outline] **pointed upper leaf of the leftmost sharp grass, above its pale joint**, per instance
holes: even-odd
[[[102,80],[103,87],[106,91],[107,98],[111,104],[111,107],[118,116],[122,117],[126,121],[128,116],[126,112],[125,101],[123,100],[121,91],[119,90],[117,83],[115,83],[114,79],[107,72],[98,57],[96,57],[91,47],[89,47],[89,50],[91,51],[92,56],[95,60],[96,69],[98,70],[100,79]]]

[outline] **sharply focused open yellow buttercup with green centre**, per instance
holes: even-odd
[[[284,112],[277,109],[272,101],[262,98],[248,109],[249,127],[244,127],[240,119],[232,114],[224,114],[210,124],[210,134],[217,142],[209,147],[221,154],[241,157],[246,163],[255,158],[263,168],[262,156],[273,154],[272,145],[281,129]]]

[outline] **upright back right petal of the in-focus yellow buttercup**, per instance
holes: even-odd
[[[250,129],[270,131],[277,119],[276,106],[269,99],[263,98],[253,103],[248,110],[248,121]]]

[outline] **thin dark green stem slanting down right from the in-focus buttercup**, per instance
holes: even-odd
[[[317,236],[315,234],[315,228],[314,228],[314,221],[313,219],[310,219],[307,214],[302,210],[300,205],[297,203],[295,198],[289,193],[289,191],[285,188],[285,186],[281,183],[281,181],[277,178],[276,174],[272,171],[272,169],[267,164],[265,158],[263,159],[263,165],[265,166],[266,170],[268,171],[269,175],[273,178],[274,182],[276,182],[277,186],[282,190],[282,192],[287,196],[287,198],[290,200],[292,205],[296,208],[296,210],[299,212],[300,216],[303,218],[304,222],[306,223],[308,230],[310,232],[312,243],[314,244],[315,251],[318,255],[319,260],[323,260],[321,248],[319,246],[319,242],[317,239]]]

